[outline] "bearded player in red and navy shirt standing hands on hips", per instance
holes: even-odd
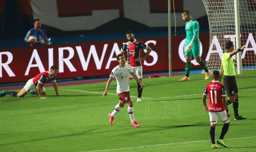
[[[126,32],[126,38],[129,40],[126,42],[121,50],[120,53],[124,53],[126,50],[128,51],[128,64],[131,65],[131,67],[134,70],[134,73],[138,76],[140,81],[142,82],[142,66],[141,62],[145,60],[149,53],[152,51],[151,48],[149,48],[148,45],[145,45],[143,42],[138,41],[137,39],[134,39],[134,34],[132,31]],[[140,57],[140,49],[146,49],[147,52],[144,57]],[[137,102],[141,102],[141,95],[143,91],[143,87],[141,87],[140,83],[137,83],[137,90],[138,90],[138,98]]]

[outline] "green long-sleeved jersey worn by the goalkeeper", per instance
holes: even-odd
[[[185,46],[193,40],[193,42],[199,42],[199,23],[195,19],[191,19],[185,24],[186,41]]]

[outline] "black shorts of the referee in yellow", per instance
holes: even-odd
[[[238,93],[235,76],[224,76],[224,86],[227,96],[235,96],[235,93]]]

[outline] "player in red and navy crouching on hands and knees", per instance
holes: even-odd
[[[19,93],[17,93],[16,91],[3,90],[2,93],[0,94],[0,97],[5,96],[6,94],[9,94],[10,96],[19,98],[19,97],[25,96],[27,93],[32,93],[35,95],[39,95],[41,99],[46,99],[46,97],[44,97],[46,95],[44,84],[48,83],[49,81],[52,81],[55,93],[57,96],[59,96],[58,85],[55,79],[55,76],[57,75],[57,73],[58,73],[58,68],[55,66],[52,66],[50,71],[39,73],[34,78],[29,79],[26,82],[26,85],[20,90]],[[37,91],[33,91],[33,90],[37,90]]]

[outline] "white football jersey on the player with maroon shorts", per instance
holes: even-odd
[[[120,65],[117,65],[115,68],[113,68],[111,74],[109,75],[110,78],[114,79],[116,77],[117,87],[116,87],[116,93],[122,93],[127,92],[130,90],[130,84],[129,84],[129,73],[134,73],[131,65],[125,64],[125,67],[121,67]]]

